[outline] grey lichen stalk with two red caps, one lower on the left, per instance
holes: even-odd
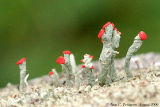
[[[70,51],[63,51],[64,57],[59,57],[57,63],[62,65],[62,72],[65,73],[67,86],[72,86],[74,83],[74,75],[70,62]]]

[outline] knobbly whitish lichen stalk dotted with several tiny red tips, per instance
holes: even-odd
[[[82,68],[82,71],[84,71],[87,76],[87,85],[90,85],[91,87],[95,85],[95,78],[93,75],[94,66],[91,63],[92,59],[93,59],[93,56],[89,54],[85,54],[84,59],[81,60],[81,62],[84,63],[81,66],[81,68]]]

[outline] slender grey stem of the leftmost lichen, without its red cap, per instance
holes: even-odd
[[[20,85],[19,90],[24,91],[25,88],[25,77],[26,77],[26,61],[19,65],[20,69]]]

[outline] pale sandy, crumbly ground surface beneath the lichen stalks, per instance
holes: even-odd
[[[116,60],[120,81],[110,87],[81,86],[55,88],[48,76],[29,81],[26,93],[8,84],[0,90],[1,107],[160,107],[160,55],[142,54],[132,58],[134,78],[128,80],[123,70],[124,59]],[[95,75],[99,63],[95,62]],[[62,76],[63,78],[63,76]],[[154,103],[154,104],[152,104]]]

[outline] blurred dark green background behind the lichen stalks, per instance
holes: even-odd
[[[143,30],[148,39],[138,53],[160,52],[160,0],[1,0],[0,87],[19,83],[16,62],[27,58],[29,79],[52,68],[70,50],[80,64],[83,54],[98,60],[102,44],[97,34],[113,22],[122,32],[120,55],[124,57],[134,37]]]

